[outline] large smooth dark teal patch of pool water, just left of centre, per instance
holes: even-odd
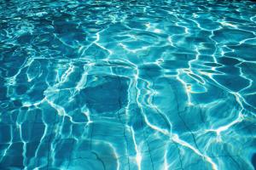
[[[82,89],[78,98],[81,102],[96,113],[118,111],[127,105],[127,88],[129,79],[113,76],[90,76],[87,77],[87,88]],[[93,79],[94,81],[90,81]],[[95,81],[102,83],[96,84]]]

